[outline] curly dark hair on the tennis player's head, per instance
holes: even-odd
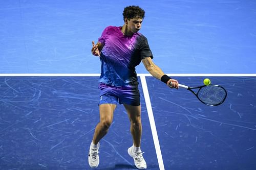
[[[127,18],[128,20],[132,18],[144,19],[145,11],[139,6],[128,6],[123,10],[123,20]]]

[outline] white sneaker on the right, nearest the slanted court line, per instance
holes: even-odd
[[[127,152],[134,159],[134,164],[138,169],[146,169],[146,161],[142,156],[144,152],[135,153],[133,151],[133,146],[129,148]]]

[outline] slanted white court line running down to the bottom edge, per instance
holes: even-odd
[[[141,80],[141,85],[142,85],[143,94],[145,98],[148,118],[150,119],[150,127],[152,131],[153,141],[155,144],[159,168],[160,170],[164,170],[163,158],[162,158],[162,153],[161,153],[160,144],[159,144],[158,135],[157,135],[157,128],[155,124],[155,119],[154,119],[153,110],[152,110],[151,101],[150,101],[150,94],[148,93],[145,76],[140,76],[140,80]]]

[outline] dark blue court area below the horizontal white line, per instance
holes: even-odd
[[[142,78],[157,130],[152,133],[142,82],[141,147],[148,169],[255,169],[256,77],[209,77],[228,91],[217,107],[200,103],[185,89]],[[196,85],[204,77],[175,78]],[[99,118],[98,77],[0,77],[0,82],[1,169],[90,169],[88,147]],[[244,88],[248,84],[254,88]],[[132,144],[129,129],[118,105],[96,169],[135,168],[126,151]]]

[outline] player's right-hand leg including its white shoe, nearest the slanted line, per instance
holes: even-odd
[[[142,125],[141,125],[141,107],[123,104],[131,122],[131,133],[133,136],[133,146],[128,149],[128,154],[133,157],[134,164],[139,169],[146,169],[146,162],[140,150]]]

